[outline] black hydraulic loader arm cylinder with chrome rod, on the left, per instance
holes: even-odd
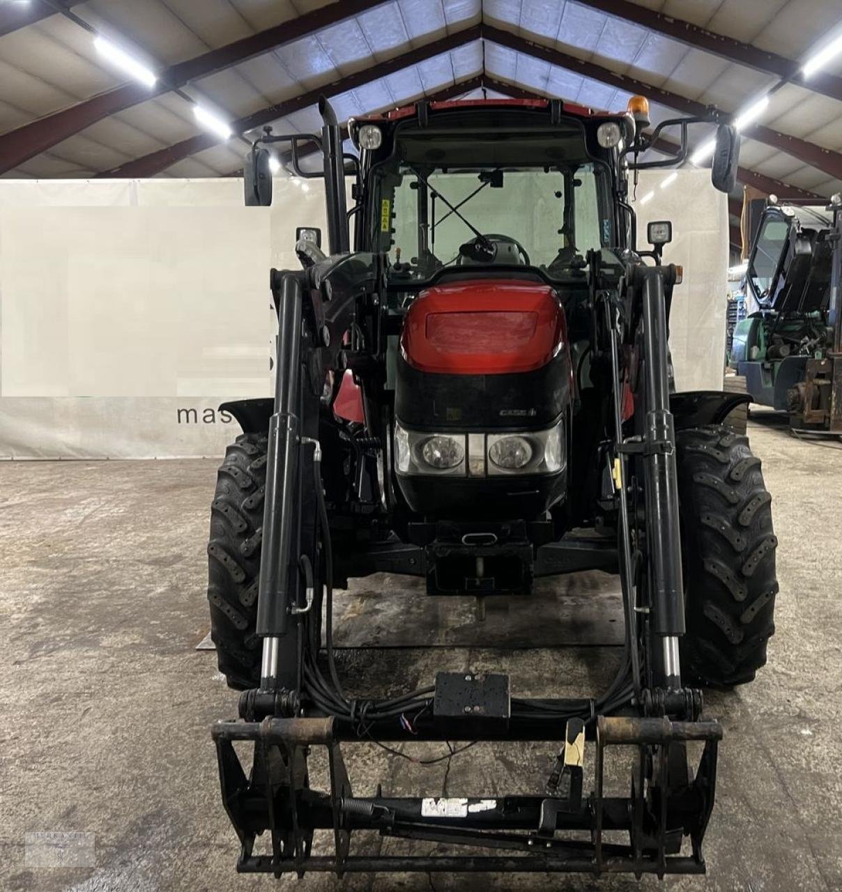
[[[298,520],[294,495],[301,449],[301,285],[292,275],[281,282],[278,322],[275,412],[269,420],[256,629],[264,639],[260,672],[260,687],[264,690],[276,686],[278,638],[286,631],[287,608],[294,594],[289,583],[293,529]]]

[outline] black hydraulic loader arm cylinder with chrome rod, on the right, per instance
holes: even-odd
[[[646,387],[646,496],[652,586],[652,632],[664,640],[662,683],[681,687],[678,637],[684,634],[678,475],[673,414],[669,409],[665,268],[638,268],[643,291],[643,339]],[[639,281],[640,281],[639,279]]]

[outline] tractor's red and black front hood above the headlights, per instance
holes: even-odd
[[[540,430],[573,393],[565,311],[556,291],[476,277],[422,291],[404,318],[395,417],[420,430]]]

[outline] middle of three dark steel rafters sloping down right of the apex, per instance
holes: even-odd
[[[550,65],[555,65],[557,68],[563,68],[574,72],[574,74],[580,74],[584,78],[607,84],[608,87],[615,87],[626,93],[640,93],[647,96],[650,102],[665,105],[667,108],[681,111],[682,114],[704,115],[711,110],[710,106],[700,103],[698,100],[678,95],[663,87],[654,87],[652,84],[628,75],[618,74],[596,62],[579,59],[562,50],[546,46],[519,34],[513,34],[511,31],[495,28],[493,25],[483,25],[483,37],[486,40],[491,40],[492,43],[515,50],[516,53],[541,59],[541,61],[549,62]],[[822,148],[820,145],[810,143],[798,136],[788,136],[761,124],[745,128],[742,135],[749,139],[755,139],[758,143],[770,145],[779,152],[793,155],[800,161],[804,161],[805,164],[824,171],[830,177],[842,179],[842,154],[838,152],[831,152],[830,149]]]

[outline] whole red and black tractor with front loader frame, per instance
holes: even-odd
[[[219,668],[243,693],[213,737],[240,871],[704,871],[722,728],[698,686],[764,665],[776,540],[760,461],[723,425],[747,396],[673,392],[671,225],[640,248],[628,202],[630,171],[667,163],[642,157],[660,133],[680,129],[680,162],[705,121],[648,135],[645,103],[631,107],[420,102],[352,121],[358,158],[323,102],[320,136],[253,145],[247,203],[271,202],[269,146],[324,176],[330,254],[301,230],[302,268],[272,270],[274,400],[223,407],[244,433],[219,469],[209,599]],[[714,123],[728,191],[738,137]],[[323,173],[302,164],[312,142]],[[524,598],[536,577],[592,568],[623,590],[623,665],[601,694],[520,698],[502,673],[384,680],[387,694],[341,677],[333,592],[351,577]],[[340,749],[533,739],[563,745],[530,796],[355,796]],[[254,744],[249,772],[235,741]],[[639,753],[627,797],[604,793],[612,745]],[[329,789],[310,788],[312,747]],[[314,853],[319,829],[331,853]],[[486,851],[355,855],[363,831]]]

